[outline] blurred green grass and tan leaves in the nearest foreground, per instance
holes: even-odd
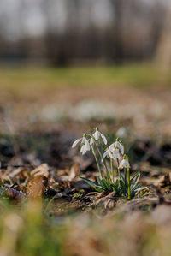
[[[150,209],[149,205],[145,207]],[[2,256],[170,255],[171,219],[167,205],[159,205],[149,214],[133,212],[127,203],[107,217],[94,211],[70,214],[65,219],[43,216],[38,203],[29,203],[21,211],[6,209],[2,204],[1,208]]]

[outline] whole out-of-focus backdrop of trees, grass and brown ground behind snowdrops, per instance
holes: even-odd
[[[144,145],[170,140],[170,1],[0,0],[0,6],[1,158],[51,143],[55,159],[57,144],[68,148],[97,124]]]

